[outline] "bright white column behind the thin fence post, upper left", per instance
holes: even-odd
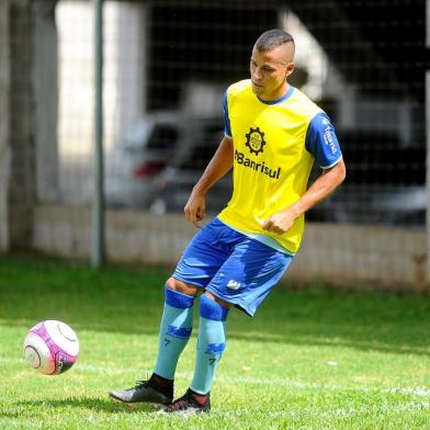
[[[147,9],[143,1],[105,1],[103,4],[106,152],[146,111]],[[58,145],[63,163],[88,160],[93,151],[93,12],[94,4],[88,0],[59,1],[56,8],[60,89]]]

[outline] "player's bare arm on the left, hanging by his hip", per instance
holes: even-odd
[[[201,227],[199,222],[205,217],[205,195],[210,188],[223,178],[233,167],[233,140],[224,136],[218,149],[212,157],[205,171],[194,185],[193,191],[185,204],[184,213],[189,220],[196,227]]]

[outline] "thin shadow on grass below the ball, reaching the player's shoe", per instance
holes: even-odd
[[[108,414],[136,414],[136,412],[156,412],[159,408],[151,404],[136,404],[127,405],[110,398],[94,398],[94,397],[73,397],[64,399],[44,399],[36,401],[18,401],[16,406],[25,406],[29,408],[83,408],[93,411]]]

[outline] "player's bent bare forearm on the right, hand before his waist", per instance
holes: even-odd
[[[296,203],[265,219],[262,225],[263,229],[279,234],[285,233],[298,216],[331,194],[343,182],[346,174],[343,160],[331,169],[324,170]]]

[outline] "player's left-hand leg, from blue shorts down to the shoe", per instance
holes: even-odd
[[[155,372],[149,381],[140,381],[129,389],[111,392],[111,397],[126,403],[171,403],[178,358],[189,339],[188,335],[191,333],[194,296],[211,282],[228,258],[231,247],[241,240],[242,236],[215,218],[193,237],[174,270],[173,278],[167,282],[167,303],[161,319]],[[177,336],[172,336],[173,333]]]

